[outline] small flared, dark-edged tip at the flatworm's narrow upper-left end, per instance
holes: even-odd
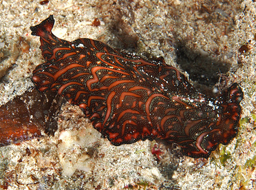
[[[46,34],[51,33],[51,30],[53,29],[54,25],[54,19],[53,15],[51,14],[50,17],[42,21],[42,23],[39,23],[38,25],[31,26],[30,30],[32,30],[33,36],[41,36],[44,37]]]

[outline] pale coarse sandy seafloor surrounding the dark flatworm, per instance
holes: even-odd
[[[66,104],[55,136],[0,148],[0,188],[256,189],[255,6],[251,0],[0,1],[1,104],[33,86],[31,71],[44,60],[29,27],[50,14],[61,39],[86,37],[147,58],[163,56],[201,92],[234,82],[244,91],[237,137],[208,159],[149,140],[115,147]],[[239,52],[242,45],[248,51]],[[159,159],[154,146],[163,151]]]

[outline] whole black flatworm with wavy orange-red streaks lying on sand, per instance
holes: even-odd
[[[146,61],[92,39],[64,41],[53,25],[51,15],[30,28],[46,59],[33,71],[33,83],[78,105],[113,145],[161,139],[208,158],[237,134],[243,96],[237,83],[208,98],[163,59]]]

